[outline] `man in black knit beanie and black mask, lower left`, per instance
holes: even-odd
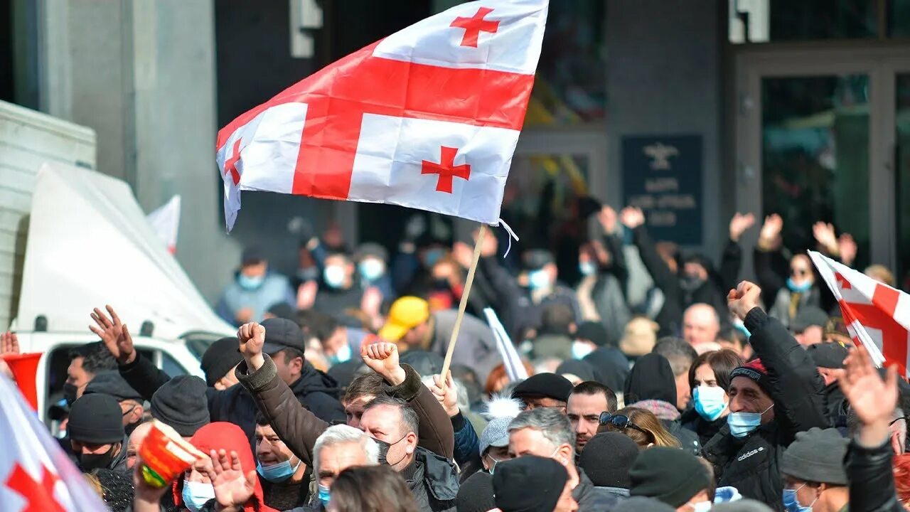
[[[87,394],[73,403],[66,432],[79,469],[98,467],[126,473],[126,435],[120,405],[109,394]]]

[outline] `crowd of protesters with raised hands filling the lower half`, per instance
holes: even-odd
[[[740,281],[751,215],[718,265],[652,241],[642,210],[595,217],[571,283],[553,248],[511,264],[482,239],[448,374],[476,232],[409,223],[390,255],[330,230],[302,241],[290,278],[249,248],[217,304],[238,333],[208,347],[205,380],[163,372],[116,305],[98,308],[100,341],[70,353],[60,445],[115,511],[905,508],[910,386],[854,347],[779,216],[760,227],[756,282]],[[849,235],[814,234],[854,261]],[[207,455],[163,488],[140,475],[151,418]]]

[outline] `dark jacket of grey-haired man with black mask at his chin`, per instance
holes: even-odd
[[[421,512],[455,512],[459,482],[450,461],[418,446],[414,463],[402,476]]]

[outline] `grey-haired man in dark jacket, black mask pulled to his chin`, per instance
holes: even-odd
[[[380,460],[404,477],[420,510],[455,510],[455,466],[417,445],[417,413],[407,402],[379,395],[367,404],[360,428],[379,443]]]

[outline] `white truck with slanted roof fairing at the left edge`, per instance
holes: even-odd
[[[69,351],[97,341],[89,313],[111,304],[136,348],[171,375],[235,333],[167,251],[125,182],[91,170],[95,135],[0,102],[0,330],[43,353],[38,414],[62,394]],[[79,166],[79,167],[75,167]]]

